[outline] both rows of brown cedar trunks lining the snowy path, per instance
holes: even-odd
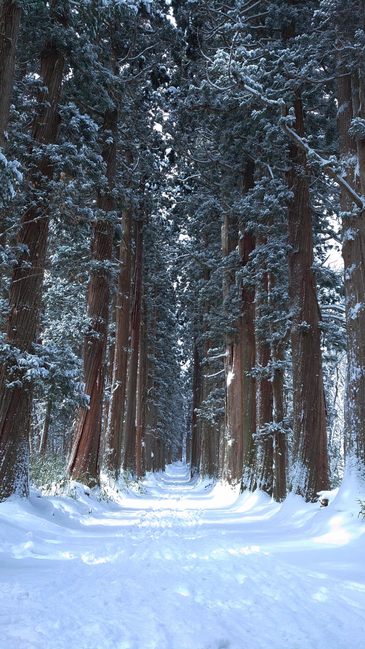
[[[62,23],[62,13],[57,14]],[[5,138],[10,97],[16,60],[16,38],[20,10],[11,0],[1,5],[0,33],[0,146]],[[351,122],[354,117],[365,119],[364,87],[357,69],[351,73],[344,70],[341,48],[338,47],[337,101],[340,156],[347,160],[347,178],[327,164],[326,173],[341,189],[341,208],[346,213],[343,222],[347,328],[347,408],[346,453],[355,455],[364,465],[365,460],[365,138],[351,138]],[[38,102],[42,107],[32,125],[32,138],[42,144],[57,140],[58,102],[62,88],[64,56],[53,43],[48,43],[41,58],[40,76],[44,86]],[[238,88],[239,81],[237,82]],[[247,88],[246,88],[247,90]],[[255,93],[255,88],[252,89]],[[316,281],[312,273],[314,261],[312,241],[312,212],[310,188],[306,173],[307,150],[305,123],[300,97],[293,105],[295,123],[286,127],[283,107],[282,128],[291,145],[288,153],[286,186],[294,196],[288,205],[288,243],[292,254],[289,258],[289,297],[292,312],[290,330],[293,364],[294,393],[294,447],[295,471],[290,485],[286,485],[286,448],[283,433],[283,360],[286,341],[282,339],[271,348],[260,347],[255,339],[255,296],[242,289],[242,317],[237,323],[238,336],[227,339],[225,360],[225,421],[220,430],[208,422],[197,419],[197,409],[207,395],[208,387],[201,376],[201,358],[194,350],[193,376],[193,422],[191,447],[188,443],[188,459],[192,472],[204,471],[219,475],[231,482],[241,482],[242,488],[253,489],[257,485],[273,493],[276,500],[283,500],[289,488],[305,496],[316,498],[316,493],[329,487],[327,437],[325,427],[325,400],[321,365],[319,308]],[[116,134],[118,110],[108,109],[103,115],[104,130]],[[108,188],[112,190],[116,177],[116,138],[107,138],[103,145]],[[350,161],[350,162],[348,162]],[[353,161],[353,163],[351,162]],[[127,164],[131,165],[131,159]],[[352,166],[351,166],[352,165]],[[355,173],[355,167],[356,173]],[[52,180],[53,166],[44,156],[38,169],[29,178],[35,190],[42,182]],[[143,195],[144,179],[140,193]],[[253,167],[247,164],[242,191],[253,186]],[[97,208],[108,213],[114,210],[112,191],[99,193]],[[123,468],[141,475],[145,469],[164,468],[166,449],[153,435],[145,435],[151,427],[149,417],[155,414],[146,408],[146,394],[151,389],[147,374],[146,326],[141,323],[143,291],[143,206],[134,215],[132,208],[125,208],[122,215],[123,239],[120,244],[118,293],[115,304],[116,342],[109,350],[108,383],[113,386],[110,402],[105,413],[107,435],[104,435],[107,468],[118,475],[123,457]],[[132,224],[136,226],[134,271],[132,267]],[[5,334],[8,343],[21,352],[31,351],[36,340],[36,330],[42,295],[43,269],[47,248],[48,219],[38,218],[36,202],[25,210],[18,243],[27,246],[27,254],[19,254],[18,263],[10,283],[9,310]],[[221,249],[223,257],[232,252],[229,238],[230,212],[223,202],[223,226]],[[347,233],[347,235],[346,235]],[[240,238],[242,265],[249,260],[255,241],[249,232]],[[92,258],[104,263],[112,256],[112,225],[106,220],[94,223]],[[27,263],[23,263],[27,262]],[[132,276],[133,275],[133,276]],[[223,281],[223,294],[229,291],[229,275]],[[270,277],[268,277],[270,282]],[[132,286],[132,291],[131,291]],[[68,471],[75,478],[92,484],[97,482],[99,445],[103,422],[103,393],[105,386],[105,357],[107,354],[107,323],[109,305],[109,280],[107,275],[92,271],[88,284],[88,317],[90,332],[84,342],[85,392],[90,395],[90,408],[81,410],[77,420]],[[130,299],[131,297],[131,299]],[[360,305],[360,308],[359,308]],[[362,305],[362,306],[361,306]],[[142,324],[142,326],[141,326]],[[154,326],[153,318],[149,323]],[[127,381],[128,339],[131,338],[129,377]],[[208,356],[208,349],[205,349]],[[262,367],[273,361],[275,373],[272,381],[255,380],[251,371],[255,363]],[[139,371],[138,371],[139,368]],[[20,371],[19,371],[20,372]],[[147,378],[148,377],[148,378]],[[12,493],[27,494],[27,456],[29,422],[31,419],[31,390],[16,385],[6,388],[7,367],[0,367],[0,499]],[[21,378],[19,374],[19,378]],[[126,410],[124,412],[126,404]],[[137,417],[136,417],[137,413]],[[122,430],[123,420],[125,421]],[[273,435],[262,441],[255,437],[266,422],[277,424]],[[273,427],[275,431],[275,426]],[[122,438],[123,434],[123,438]],[[145,435],[145,439],[144,439]],[[124,439],[124,453],[121,443]],[[256,440],[256,441],[255,441]],[[143,444],[145,443],[145,446]],[[155,445],[155,446],[152,446]],[[155,467],[151,459],[155,458]],[[170,458],[171,459],[171,458]]]

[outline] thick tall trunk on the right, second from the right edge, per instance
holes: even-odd
[[[294,102],[295,129],[304,136],[301,100]],[[288,206],[289,297],[292,311],[294,448],[291,488],[306,500],[329,489],[325,395],[323,389],[320,310],[317,300],[309,183],[305,154],[290,145],[292,167],[286,184],[294,194]],[[303,167],[298,174],[296,165]]]

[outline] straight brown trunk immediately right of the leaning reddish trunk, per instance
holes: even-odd
[[[131,151],[127,151],[126,162],[129,167],[132,165],[133,158]],[[118,277],[118,296],[116,306],[116,340],[113,363],[114,373],[112,378],[112,391],[110,394],[106,455],[107,469],[116,477],[120,474],[121,469],[125,395],[127,392],[128,339],[131,304],[132,217],[132,204],[129,204],[129,206],[122,212],[121,221],[123,236],[120,241],[119,251],[120,272]]]

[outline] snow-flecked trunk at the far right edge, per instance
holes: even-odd
[[[339,48],[340,49],[340,48]],[[341,76],[346,71],[340,53],[337,57],[337,124],[340,156],[347,183],[365,195],[365,140],[349,135],[351,120],[365,118],[364,84],[359,75]],[[357,173],[356,170],[357,169]],[[346,459],[357,458],[365,465],[365,210],[354,213],[346,193],[340,194],[346,296],[347,380],[345,407]]]

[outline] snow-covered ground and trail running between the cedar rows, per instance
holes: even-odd
[[[118,502],[84,491],[0,505],[1,649],[364,646],[351,485],[279,506],[177,463]]]

